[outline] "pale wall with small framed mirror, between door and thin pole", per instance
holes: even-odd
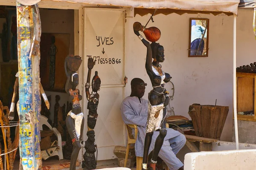
[[[132,16],[133,13],[128,12],[127,15]],[[140,77],[148,83],[145,99],[152,89],[145,71],[146,48],[132,28],[135,21],[145,25],[149,17],[150,15],[137,15],[135,18],[128,18],[125,24],[125,75],[128,77],[125,96],[130,95],[129,84],[134,77]],[[188,57],[190,17],[209,18],[209,57]],[[166,60],[162,68],[173,77],[175,96],[171,106],[175,108],[175,114],[190,118],[189,105],[215,105],[217,99],[217,105],[230,107],[221,140],[232,141],[233,16],[159,14],[154,17],[154,23],[149,22],[148,27],[150,26],[157,26],[162,34],[158,41],[165,48]],[[167,90],[170,87],[171,85],[166,85]]]

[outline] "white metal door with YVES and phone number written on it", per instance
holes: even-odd
[[[91,79],[95,71],[101,79],[98,119],[94,129],[98,160],[116,158],[114,147],[125,144],[125,129],[120,114],[124,98],[124,24],[124,10],[84,9],[84,84],[89,56],[96,59]],[[83,96],[86,99],[85,91]],[[86,107],[87,101],[84,101]],[[84,117],[87,118],[88,110],[85,110]],[[84,130],[84,139],[87,139],[86,132],[87,129]]]

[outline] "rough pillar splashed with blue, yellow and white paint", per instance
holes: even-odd
[[[41,20],[37,4],[17,3],[17,48],[20,102],[20,169],[40,170],[40,37]],[[34,40],[33,40],[34,39]]]

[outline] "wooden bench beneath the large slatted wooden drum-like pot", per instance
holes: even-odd
[[[186,146],[192,152],[212,151],[212,142],[217,142],[217,139],[209,139],[192,135],[186,136]]]

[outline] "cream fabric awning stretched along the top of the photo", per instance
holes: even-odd
[[[31,4],[38,0],[18,0]],[[215,11],[237,15],[240,0],[53,0],[58,2],[125,6],[134,8],[180,9],[187,11]],[[27,4],[24,4],[27,5]]]

